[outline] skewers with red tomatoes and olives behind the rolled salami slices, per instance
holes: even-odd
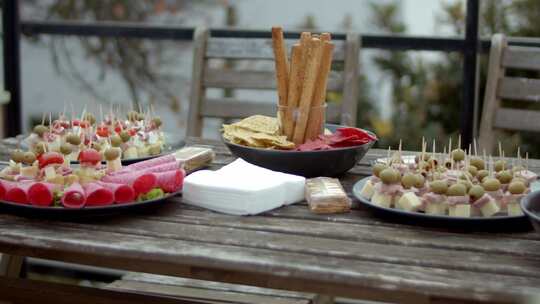
[[[66,161],[78,161],[80,152],[86,148],[98,151],[102,160],[161,154],[165,146],[162,121],[153,115],[153,111],[130,111],[125,118],[113,113],[112,109],[107,115],[100,112],[99,121],[86,110],[78,118],[72,114],[71,119],[60,113],[52,120],[49,113],[48,126],[44,115],[41,124],[36,125],[25,139],[30,147],[30,152],[25,155],[30,157],[33,153],[37,158],[52,151],[64,155]]]

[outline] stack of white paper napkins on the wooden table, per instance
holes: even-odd
[[[184,180],[183,201],[218,212],[258,214],[304,200],[306,179],[237,159],[217,170],[201,170]]]

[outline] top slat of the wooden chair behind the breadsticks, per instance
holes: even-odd
[[[285,42],[290,50],[292,45],[298,42],[298,39],[286,39]],[[343,61],[345,59],[345,42],[343,40],[332,42],[335,44],[334,60]],[[265,38],[212,38],[208,41],[206,57],[273,60],[272,40]]]

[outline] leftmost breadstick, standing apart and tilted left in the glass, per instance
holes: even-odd
[[[287,86],[289,83],[289,62],[287,60],[287,47],[283,39],[283,29],[272,27],[272,48],[276,65],[276,83],[279,105],[287,105]]]

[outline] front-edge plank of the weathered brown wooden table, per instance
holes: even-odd
[[[406,292],[412,299],[414,294],[420,293],[483,301],[516,301],[537,292],[536,286],[540,284],[538,278],[515,275],[388,263],[374,265],[370,261],[351,262],[345,258],[201,244],[167,237],[103,231],[89,233],[84,227],[62,225],[55,225],[54,233],[51,233],[50,227],[50,223],[39,221],[20,224],[17,220],[3,220],[0,246],[12,254],[199,279],[221,281],[232,278],[236,283],[278,289],[296,289],[301,284],[306,291],[332,291],[344,296],[364,295],[362,288],[366,288]],[[224,278],[216,275],[218,270],[236,276],[227,274]],[[269,273],[271,278],[261,276]],[[304,286],[306,282],[308,284]]]

